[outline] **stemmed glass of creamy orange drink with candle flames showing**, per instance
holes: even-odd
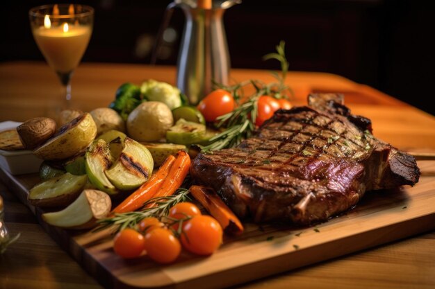
[[[28,15],[35,42],[63,86],[63,108],[70,108],[70,80],[88,47],[94,9],[79,4],[51,4],[31,8]]]

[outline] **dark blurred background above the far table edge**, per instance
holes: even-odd
[[[2,2],[1,61],[43,60],[27,13],[54,2]],[[69,2],[95,8],[83,62],[150,63],[169,0]],[[183,23],[183,12],[175,10],[156,64],[177,63]],[[224,24],[231,67],[279,69],[261,58],[285,40],[290,70],[336,73],[435,114],[433,1],[244,0],[225,12]]]

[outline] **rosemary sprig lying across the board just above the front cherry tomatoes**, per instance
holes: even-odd
[[[163,218],[167,216],[171,207],[179,202],[186,202],[188,198],[188,189],[180,188],[174,195],[167,197],[152,198],[143,204],[145,209],[127,213],[115,213],[115,216],[98,220],[99,226],[94,231],[100,231],[108,227],[114,227],[115,232],[125,228],[133,228],[145,218],[156,217]],[[148,204],[156,204],[156,207],[147,208]]]

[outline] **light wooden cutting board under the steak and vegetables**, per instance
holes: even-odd
[[[146,256],[123,260],[113,253],[107,231],[71,231],[51,227],[42,211],[28,205],[58,244],[106,288],[222,288],[299,268],[435,229],[435,161],[418,161],[416,186],[368,192],[351,211],[311,227],[259,227],[246,224],[237,238],[209,257],[183,252],[172,265],[156,265]],[[37,175],[0,178],[27,204]]]

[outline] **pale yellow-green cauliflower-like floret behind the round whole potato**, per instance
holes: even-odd
[[[181,91],[169,83],[156,80],[147,80],[142,83],[140,91],[147,100],[165,103],[171,110],[181,106]]]

